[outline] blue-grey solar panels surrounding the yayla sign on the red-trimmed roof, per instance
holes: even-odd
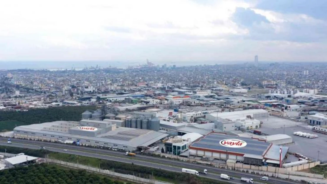
[[[230,148],[219,144],[221,140],[224,139],[239,139],[247,142],[247,145],[242,148]],[[206,148],[213,150],[229,151],[242,154],[253,154],[253,155],[263,155],[265,150],[268,148],[269,143],[253,140],[250,138],[242,138],[237,136],[223,135],[217,133],[211,133],[197,142],[194,142],[192,147]]]

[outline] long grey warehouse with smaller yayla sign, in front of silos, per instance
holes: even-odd
[[[56,121],[18,126],[14,128],[13,133],[14,137],[18,138],[76,143],[124,151],[144,149],[168,136],[153,130],[119,127],[116,126],[116,121]]]

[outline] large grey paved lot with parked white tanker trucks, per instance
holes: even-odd
[[[261,128],[260,130],[263,133],[267,133],[269,135],[283,134],[284,127],[283,128],[274,128],[274,129]],[[319,137],[309,139],[309,138],[293,135],[293,132],[298,132],[298,131],[305,132],[305,133],[317,134]],[[285,134],[291,136],[293,138],[293,141],[295,142],[294,145],[288,145],[290,152],[300,153],[311,159],[318,159],[318,151],[320,151],[319,160],[327,161],[327,154],[325,154],[325,151],[327,150],[327,142],[326,142],[327,135],[313,132],[310,129],[306,129],[305,125],[292,126],[292,127],[285,126]]]

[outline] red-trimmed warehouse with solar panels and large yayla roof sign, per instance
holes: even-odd
[[[280,154],[280,148],[282,152]],[[189,146],[189,154],[197,157],[243,162],[251,165],[279,166],[286,159],[288,147],[263,140],[210,133]]]

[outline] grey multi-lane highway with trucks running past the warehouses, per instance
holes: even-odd
[[[181,168],[188,168],[188,169],[196,169],[196,170],[208,170],[208,175],[201,175],[202,177],[208,177],[211,179],[220,180],[220,176],[217,173],[223,173],[234,177],[252,177],[254,180],[260,180],[261,176],[252,175],[249,173],[242,173],[227,169],[220,169],[215,168],[212,166],[204,166],[195,163],[188,163],[183,161],[176,161],[170,159],[162,159],[157,157],[145,156],[145,155],[137,155],[135,159],[125,156],[123,152],[111,151],[111,150],[102,150],[90,147],[81,147],[76,145],[68,145],[68,144],[60,144],[60,143],[53,143],[53,142],[41,142],[41,141],[31,141],[31,140],[22,140],[22,139],[12,139],[11,145],[8,145],[7,138],[0,138],[0,145],[7,145],[7,146],[15,146],[15,147],[24,147],[24,148],[31,148],[31,149],[39,149],[40,146],[46,147],[49,151],[54,152],[61,152],[61,153],[68,153],[68,154],[75,154],[87,157],[94,157],[100,159],[107,159],[107,160],[114,160],[119,162],[125,163],[134,163],[137,165],[143,165],[147,167],[154,167],[154,168],[161,168],[164,170],[181,172]],[[67,149],[67,151],[63,151],[63,149]],[[149,161],[150,160],[150,161]],[[215,174],[210,174],[215,173]],[[231,183],[239,183],[238,179],[230,180]],[[258,183],[258,182],[255,182]],[[260,183],[267,183],[267,182],[260,182]],[[284,183],[296,183],[293,181],[287,181],[277,178],[269,177],[269,183],[276,183],[276,184],[284,184]]]

